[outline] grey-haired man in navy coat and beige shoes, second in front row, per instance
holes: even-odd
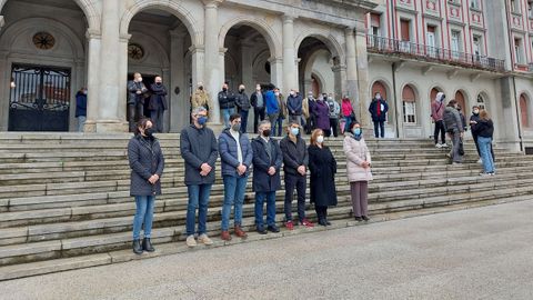
[[[195,247],[194,227],[198,209],[198,241],[212,244],[207,234],[208,204],[211,187],[214,183],[214,164],[219,156],[217,138],[208,122],[208,111],[203,107],[192,110],[191,126],[181,131],[180,150],[185,161],[185,186],[189,192],[187,207],[187,246]]]

